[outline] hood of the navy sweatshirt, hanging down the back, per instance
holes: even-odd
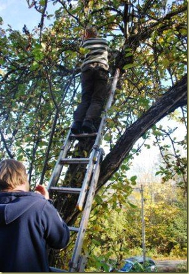
[[[33,198],[28,200],[28,196]],[[0,225],[7,225],[16,220],[37,203],[39,198],[45,199],[34,192],[0,192]]]

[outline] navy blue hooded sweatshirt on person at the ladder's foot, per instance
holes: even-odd
[[[34,192],[0,192],[0,271],[49,272],[47,245],[60,249],[70,232],[55,207]]]

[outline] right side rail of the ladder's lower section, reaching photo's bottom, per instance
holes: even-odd
[[[89,222],[89,217],[90,217],[90,213],[91,213],[93,199],[94,199],[94,196],[95,196],[95,189],[96,189],[96,185],[97,185],[98,178],[99,178],[101,153],[102,153],[102,150],[100,149],[99,153],[98,153],[98,156],[97,156],[95,170],[94,170],[94,174],[93,174],[93,177],[92,177],[92,181],[91,181],[90,190],[89,190],[89,193],[88,193],[86,205],[85,205],[85,208],[84,208],[84,211],[83,211],[83,216],[82,216],[82,220],[81,220],[81,223],[80,223],[80,229],[79,229],[78,237],[77,237],[77,240],[76,240],[76,243],[75,243],[75,248],[74,248],[72,260],[71,260],[71,263],[70,263],[69,272],[77,271],[78,262],[79,262],[79,258],[80,258],[80,255],[81,255],[83,242],[84,242],[84,237],[85,237],[86,229],[87,229],[88,222]]]

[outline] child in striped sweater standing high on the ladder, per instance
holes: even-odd
[[[88,27],[82,47],[86,51],[81,66],[82,101],[74,112],[73,134],[97,131],[95,122],[100,118],[108,92],[107,41],[97,37],[95,27]]]

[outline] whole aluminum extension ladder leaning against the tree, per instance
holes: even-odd
[[[93,199],[95,196],[95,189],[98,182],[98,177],[100,173],[100,161],[103,155],[103,149],[100,148],[100,144],[103,138],[103,129],[105,126],[105,120],[107,111],[112,104],[112,100],[114,97],[114,92],[116,89],[118,77],[119,77],[119,69],[116,69],[111,88],[109,91],[109,96],[105,105],[105,109],[101,118],[101,122],[98,128],[97,133],[83,133],[83,134],[72,134],[71,129],[69,130],[64,146],[61,148],[61,152],[53,173],[51,175],[50,181],[47,185],[47,189],[53,192],[58,191],[59,193],[70,193],[70,194],[79,194],[78,202],[77,202],[77,209],[82,212],[82,218],[80,222],[79,228],[76,227],[69,227],[70,231],[75,231],[78,233],[77,239],[75,242],[75,247],[72,255],[72,259],[69,263],[69,271],[62,271],[62,272],[84,272],[85,264],[87,261],[86,256],[81,255],[82,253],[82,246],[84,242],[84,236],[86,233],[90,212],[93,204]],[[66,158],[67,153],[69,151],[71,141],[77,138],[86,138],[86,137],[95,137],[95,144],[93,146],[91,155],[89,158]],[[61,175],[63,166],[72,165],[72,164],[88,164],[86,174],[82,183],[82,187],[61,187],[56,186],[58,183],[59,177]],[[53,272],[60,272],[56,271],[55,268],[51,268]]]

